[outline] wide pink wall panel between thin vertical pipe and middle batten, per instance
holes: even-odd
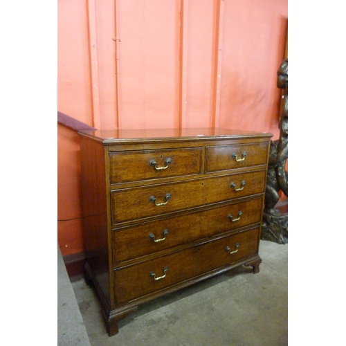
[[[120,124],[177,127],[179,1],[118,1]]]

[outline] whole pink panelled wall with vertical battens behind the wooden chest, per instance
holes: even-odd
[[[278,138],[287,0],[58,0],[58,111],[98,129]],[[78,136],[58,125],[58,242],[82,253]]]

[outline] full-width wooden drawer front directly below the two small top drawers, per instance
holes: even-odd
[[[264,192],[265,170],[111,191],[112,224]]]

